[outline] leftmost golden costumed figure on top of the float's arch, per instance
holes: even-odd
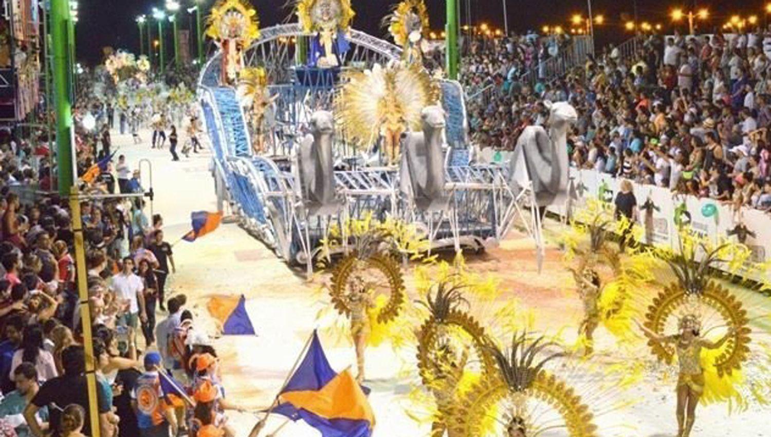
[[[220,0],[207,18],[206,35],[222,50],[221,84],[235,85],[244,69],[244,50],[260,37],[257,11],[246,0]]]

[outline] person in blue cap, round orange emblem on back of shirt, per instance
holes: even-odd
[[[171,437],[177,435],[177,418],[173,405],[161,387],[158,352],[148,352],[144,358],[144,373],[136,379],[131,393],[140,437]]]

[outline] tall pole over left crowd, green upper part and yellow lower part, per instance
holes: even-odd
[[[72,61],[69,49],[70,15],[69,0],[51,0],[51,43],[53,52],[54,101],[56,103],[56,166],[58,172],[59,195],[70,199],[73,209],[73,234],[75,234],[76,267],[79,279],[79,299],[88,301],[86,289],[86,260],[83,252],[82,223],[80,223],[80,203],[77,200],[78,188],[75,183],[75,156],[72,142],[72,97],[69,94],[69,81],[72,80]],[[91,314],[89,305],[81,305],[83,328],[83,350],[86,355],[86,389],[89,398],[89,417],[91,434],[100,437],[99,408],[96,401],[96,374],[94,373],[93,338],[91,335]]]

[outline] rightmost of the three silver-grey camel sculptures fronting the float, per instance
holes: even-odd
[[[549,132],[541,126],[524,129],[511,156],[509,176],[518,208],[524,204],[530,209],[529,230],[538,245],[539,271],[544,258],[541,218],[546,207],[567,202],[570,180],[567,129],[578,119],[576,110],[568,103],[547,102],[546,105],[550,109]],[[524,221],[527,224],[527,220]]]

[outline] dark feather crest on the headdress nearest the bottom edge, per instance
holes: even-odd
[[[488,345],[500,371],[500,376],[513,392],[524,392],[549,361],[564,357],[564,351],[542,355],[545,349],[557,346],[553,341],[545,341],[541,336],[531,340],[527,331],[514,333],[509,351],[503,351],[497,345]]]

